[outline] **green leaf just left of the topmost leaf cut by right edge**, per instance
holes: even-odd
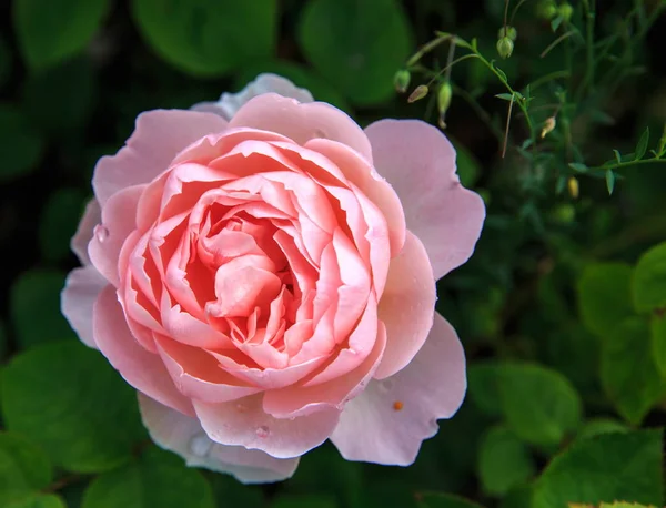
[[[585,267],[578,282],[583,324],[602,338],[634,315],[630,296],[633,268],[624,263],[596,263]]]

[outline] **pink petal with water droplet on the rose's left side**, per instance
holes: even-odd
[[[102,207],[102,222],[88,244],[90,261],[115,287],[120,287],[120,252],[137,228],[137,203],[143,189],[144,185],[137,185],[115,193]]]

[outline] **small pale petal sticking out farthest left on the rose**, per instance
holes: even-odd
[[[92,308],[108,281],[94,266],[72,270],[62,289],[60,306],[62,314],[83,344],[97,348],[92,334]]]

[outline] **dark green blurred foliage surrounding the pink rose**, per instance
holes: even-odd
[[[0,506],[663,506],[665,10],[0,2]],[[60,315],[97,159],[138,113],[214,100],[266,71],[361,124],[445,113],[461,179],[486,200],[474,257],[438,287],[468,396],[408,468],[347,463],[329,444],[278,485],[185,468],[147,441],[133,390]],[[420,84],[430,93],[411,103]]]

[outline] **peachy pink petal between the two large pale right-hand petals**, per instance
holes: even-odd
[[[433,326],[436,299],[427,253],[418,238],[407,231],[405,246],[391,260],[386,287],[379,304],[387,342],[375,378],[395,374],[418,353]]]

